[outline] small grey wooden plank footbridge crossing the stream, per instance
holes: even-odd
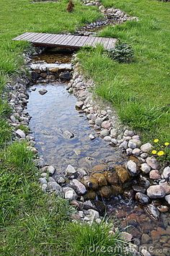
[[[99,38],[85,35],[46,34],[46,33],[24,33],[13,40],[24,40],[35,46],[81,48],[82,46],[95,47],[102,44],[105,49],[115,47],[115,38]]]

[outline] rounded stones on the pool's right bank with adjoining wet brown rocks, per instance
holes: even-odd
[[[164,199],[163,205],[158,209],[153,205],[154,213],[151,215],[153,218],[158,218],[160,212],[169,210],[169,197],[170,197],[170,167],[161,168],[160,163],[150,156],[153,146],[150,143],[142,145],[140,136],[136,135],[135,132],[125,129],[119,123],[117,116],[110,115],[112,111],[110,109],[99,110],[97,103],[93,98],[93,94],[90,92],[91,88],[94,87],[94,83],[91,80],[85,80],[80,69],[79,61],[73,68],[73,80],[68,83],[68,91],[76,95],[78,102],[76,106],[81,108],[89,119],[89,125],[94,127],[96,135],[91,136],[92,140],[95,136],[100,136],[103,140],[109,141],[110,145],[118,146],[130,156],[130,160],[126,166],[115,168],[115,180],[109,182],[109,185],[113,184],[126,184],[131,179],[132,187],[135,191],[135,200],[141,204],[149,204],[152,200]],[[107,185],[108,175],[107,171],[103,174],[96,175],[96,178],[86,177],[84,184],[89,184],[89,187],[99,188]],[[99,180],[98,180],[99,179]],[[102,179],[102,182],[101,182]],[[117,182],[116,182],[117,181]],[[109,190],[109,195],[112,195],[112,189]],[[106,196],[108,197],[108,195]],[[150,211],[151,212],[151,211]]]

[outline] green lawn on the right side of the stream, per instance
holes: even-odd
[[[106,27],[99,35],[119,38],[135,51],[135,61],[119,64],[101,48],[79,53],[81,63],[97,84],[96,93],[117,108],[120,119],[137,129],[143,140],[170,140],[169,3],[157,0],[102,0],[139,22]]]

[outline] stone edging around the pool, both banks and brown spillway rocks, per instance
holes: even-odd
[[[42,71],[44,72],[44,70]],[[35,72],[35,69],[32,69],[32,72]],[[48,73],[48,69],[46,72]],[[37,74],[41,74],[41,72],[38,71]],[[44,79],[41,76],[37,77],[38,80],[42,78]],[[30,80],[27,79],[26,75],[23,75],[22,79],[18,78],[13,86],[9,86],[9,89],[12,90],[9,93],[9,103],[14,109],[9,121],[14,127],[14,140],[26,139],[30,150],[37,154],[34,138],[27,135],[24,130],[18,129],[21,124],[27,127],[31,118],[25,109],[28,101],[26,85],[30,85]],[[107,166],[98,166],[92,170],[93,174],[91,175],[88,175],[86,170],[82,168],[75,169],[73,166],[68,166],[66,176],[58,176],[53,166],[46,166],[42,158],[37,158],[35,161],[40,168],[39,181],[42,190],[55,192],[56,195],[70,200],[71,204],[78,209],[77,214],[72,216],[74,219],[81,219],[81,221],[88,223],[95,220],[99,223],[101,221],[99,208],[87,200],[88,197],[91,195],[93,199],[96,196],[109,197],[120,192],[123,195],[123,192],[126,192],[120,191],[120,189],[124,189],[123,185],[133,182],[136,200],[144,205],[148,204],[146,211],[153,218],[159,218],[160,212],[169,210],[168,204],[161,203],[161,205],[156,206],[155,203],[155,199],[158,198],[159,200],[163,197],[169,203],[169,166],[161,170],[156,159],[148,155],[152,149],[151,144],[141,145],[140,137],[135,135],[133,131],[124,129],[116,114],[112,114],[111,108],[100,109],[97,106],[97,101],[89,91],[93,87],[93,81],[84,79],[78,61],[73,67],[73,79],[68,83],[67,89],[76,95],[78,98],[76,107],[86,113],[89,125],[94,127],[96,131],[89,137],[89,140],[101,136],[110,145],[122,148],[124,152],[131,155],[131,159],[126,166],[112,168],[112,170],[108,170]],[[113,188],[117,189],[116,194],[112,193]],[[151,203],[151,200],[154,201]]]

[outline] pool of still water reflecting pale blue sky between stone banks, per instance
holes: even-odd
[[[108,142],[100,137],[89,139],[94,130],[89,127],[86,116],[76,111],[76,98],[66,91],[65,85],[35,85],[34,88],[37,90],[30,93],[28,103],[32,116],[30,128],[35,135],[36,147],[47,163],[62,171],[69,163],[89,168],[103,163],[106,158],[122,161],[120,150],[108,146]],[[40,88],[47,88],[48,93],[40,95]],[[72,139],[63,137],[66,130],[73,132]]]

